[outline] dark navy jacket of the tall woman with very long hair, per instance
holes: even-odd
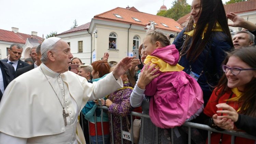
[[[177,35],[175,41],[172,43],[175,44],[179,51],[181,51],[184,42],[183,36],[185,29],[186,28]],[[186,47],[186,49],[188,49],[188,47]],[[207,104],[211,96],[213,90],[211,86],[215,86],[222,76],[221,65],[226,57],[226,52],[230,50],[231,44],[229,43],[228,36],[224,32],[213,31],[203,52],[194,62],[189,62],[186,58],[187,55],[183,55],[179,61],[179,64],[184,67],[183,71],[187,74],[190,74],[192,71],[200,75],[203,71],[197,82],[203,91],[204,104]]]

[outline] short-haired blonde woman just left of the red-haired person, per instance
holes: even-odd
[[[93,71],[93,66],[91,66],[90,64],[84,64],[79,66],[77,74],[85,77],[88,82],[93,83],[91,81],[91,79],[93,78],[93,76],[91,76],[92,71]]]

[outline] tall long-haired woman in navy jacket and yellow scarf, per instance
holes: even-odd
[[[190,14],[187,27],[172,44],[180,51],[183,71],[199,83],[205,105],[233,43],[222,0],[193,0]]]

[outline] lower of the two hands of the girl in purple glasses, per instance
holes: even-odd
[[[232,130],[234,128],[234,122],[231,119],[218,118],[217,114],[213,115],[212,119],[213,119],[214,124],[222,129]]]

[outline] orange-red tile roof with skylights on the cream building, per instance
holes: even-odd
[[[122,18],[118,18],[114,14],[120,15]],[[177,27],[181,27],[181,26],[174,19],[147,14],[147,13],[134,11],[130,9],[119,8],[119,7],[112,9],[110,11],[98,14],[94,16],[94,18],[106,19],[111,21],[119,21],[123,23],[131,23],[131,24],[141,25],[141,26],[145,26],[145,24],[150,23],[150,21],[155,21],[155,23],[157,24],[155,25],[156,28],[170,30],[170,31],[177,31],[177,32],[181,31],[181,29],[175,27],[175,26]],[[140,21],[136,21],[133,18],[137,18]],[[165,27],[162,24],[166,24],[168,27]]]

